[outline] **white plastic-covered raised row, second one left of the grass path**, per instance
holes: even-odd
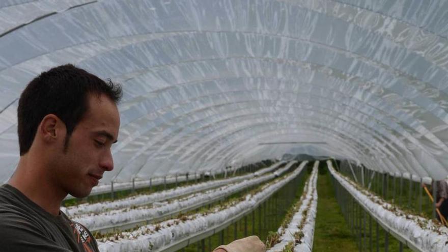
[[[265,187],[262,191],[254,195],[247,195],[244,201],[227,209],[216,211],[205,216],[195,214],[193,215],[195,218],[183,222],[175,219],[164,221],[159,225],[148,225],[134,232],[122,233],[120,235],[126,238],[119,237],[115,241],[98,242],[99,248],[102,252],[176,251],[227,228],[244,215],[255,210],[278,189],[296,178],[304,170],[303,167],[305,164],[306,161],[302,162],[291,175]],[[157,231],[155,231],[156,229]],[[141,235],[136,237],[137,234]]]

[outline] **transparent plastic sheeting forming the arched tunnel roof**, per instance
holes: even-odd
[[[285,153],[448,174],[444,1],[2,1],[0,180],[17,99],[73,63],[121,82],[103,182],[220,171]],[[274,144],[276,143],[276,144]]]

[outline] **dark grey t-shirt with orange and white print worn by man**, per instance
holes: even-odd
[[[99,252],[86,227],[54,216],[15,187],[0,186],[0,251]]]

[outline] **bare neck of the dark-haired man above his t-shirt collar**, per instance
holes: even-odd
[[[17,188],[31,201],[52,215],[59,215],[61,202],[67,193],[58,190],[49,180],[47,174],[30,159],[21,157],[17,169],[8,184]]]

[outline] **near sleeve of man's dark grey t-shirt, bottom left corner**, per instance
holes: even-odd
[[[38,225],[26,219],[2,214],[0,218],[0,248],[2,251],[71,252],[46,236]]]

